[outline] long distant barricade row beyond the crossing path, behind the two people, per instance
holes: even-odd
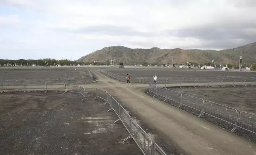
[[[106,74],[113,79],[119,80],[119,81],[126,81],[126,76],[120,76],[111,72],[108,72],[106,70],[99,69],[99,72]],[[161,80],[162,84],[171,84],[171,83],[180,83],[180,87],[182,86],[182,83],[213,83],[213,82],[219,82],[225,83],[225,82],[256,82],[255,77],[170,77],[170,78],[158,78],[158,81]],[[130,77],[131,82],[138,82],[138,83],[152,83],[153,82],[153,77],[148,78],[148,77]],[[158,82],[159,83],[159,82]]]

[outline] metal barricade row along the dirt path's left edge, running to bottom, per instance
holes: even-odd
[[[116,121],[120,120],[124,124],[124,127],[127,129],[130,136],[125,138],[123,141],[132,138],[144,155],[166,155],[156,143],[152,143],[151,138],[145,130],[143,130],[140,125],[130,117],[129,113],[122,107],[122,105],[119,104],[107,91],[96,88],[95,98],[104,100],[105,104],[109,103],[111,106],[110,110],[113,110],[116,115],[118,115],[118,120]]]

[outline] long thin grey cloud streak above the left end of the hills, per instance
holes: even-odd
[[[124,26],[112,26],[112,25],[99,25],[99,26],[87,26],[79,29],[69,29],[69,28],[54,28],[54,30],[62,32],[70,32],[76,34],[107,34],[112,36],[144,36],[152,37],[157,36],[155,32],[140,32],[134,30],[130,27]]]

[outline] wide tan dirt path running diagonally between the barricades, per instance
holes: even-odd
[[[91,70],[97,79],[109,77]],[[256,144],[117,81],[101,81],[124,106],[191,155],[256,155]],[[132,85],[132,84],[131,84]]]

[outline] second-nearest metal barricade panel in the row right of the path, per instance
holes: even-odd
[[[234,108],[205,101],[204,113],[236,126],[238,112]]]

